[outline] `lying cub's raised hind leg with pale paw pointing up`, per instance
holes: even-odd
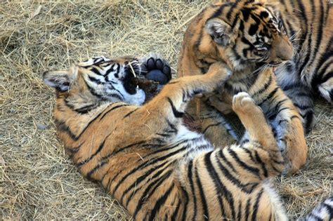
[[[279,175],[285,168],[284,160],[261,108],[256,105],[249,94],[242,92],[234,95],[233,110],[249,135],[249,142],[241,145],[242,150],[237,152],[244,151],[244,148],[248,149],[247,153],[251,152],[250,159],[256,160],[251,162],[247,154],[240,155],[240,158],[244,157],[244,162],[254,163],[253,165],[263,163],[263,178]]]

